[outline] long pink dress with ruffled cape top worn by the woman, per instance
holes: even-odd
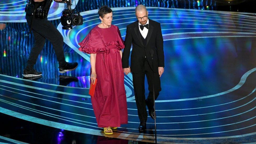
[[[79,43],[80,51],[96,55],[97,84],[92,106],[98,127],[127,124],[127,103],[120,50],[124,48],[119,28],[95,26]]]

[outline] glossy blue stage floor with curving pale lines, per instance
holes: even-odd
[[[150,19],[161,23],[164,38],[165,71],[156,100],[158,143],[256,142],[256,17],[207,10],[148,11]],[[50,126],[59,132],[106,136],[97,127],[88,95],[89,55],[78,51],[78,42],[100,22],[95,12],[81,13],[83,25],[72,30],[62,30],[58,24],[66,61],[79,63],[75,71],[61,76],[47,42],[35,65],[42,77],[22,78],[33,37],[28,31],[0,31],[1,117],[41,124],[41,129]],[[123,39],[126,26],[135,20],[134,7],[113,8],[112,24]],[[137,130],[140,121],[131,74],[125,76],[125,88],[129,122],[108,137],[154,142],[150,117],[147,130]]]

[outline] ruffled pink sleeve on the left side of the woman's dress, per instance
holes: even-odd
[[[81,46],[79,50],[87,54],[97,54],[98,52],[106,51],[104,42],[99,32],[95,29],[92,29],[78,45]]]

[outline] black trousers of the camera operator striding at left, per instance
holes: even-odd
[[[32,15],[26,15],[26,20],[30,25]],[[49,22],[47,18],[33,18],[32,32],[34,34],[35,42],[29,54],[26,70],[31,70],[35,65],[38,55],[45,45],[45,39],[52,43],[59,66],[65,66],[67,62],[65,61],[63,51],[63,37],[57,28],[51,22]]]

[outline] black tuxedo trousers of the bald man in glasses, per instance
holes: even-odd
[[[154,75],[154,89],[155,89],[155,99],[157,99],[159,92],[161,91],[160,77],[158,72],[153,72],[148,64],[146,58],[144,59],[144,68],[141,73],[132,73],[132,81],[135,93],[135,101],[138,109],[138,116],[140,121],[147,120],[147,109],[145,102],[145,74],[148,81],[149,94],[147,99],[154,105],[153,98],[153,75]]]

